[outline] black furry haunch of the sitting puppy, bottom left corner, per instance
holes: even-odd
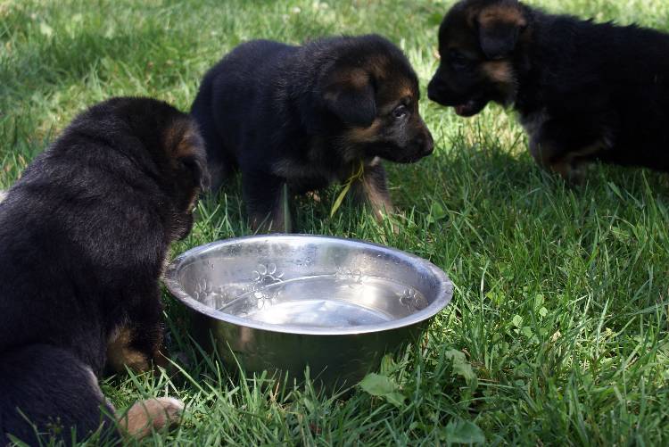
[[[0,353],[0,445],[116,444],[113,415],[93,370],[71,352],[31,344]]]

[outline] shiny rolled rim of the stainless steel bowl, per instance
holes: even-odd
[[[255,321],[252,319],[244,319],[240,317],[235,317],[234,315],[221,312],[219,310],[213,309],[209,306],[202,304],[191,297],[189,294],[183,290],[178,281],[178,273],[181,269],[187,267],[190,264],[195,256],[202,255],[205,252],[210,252],[215,249],[218,249],[221,246],[239,244],[239,243],[250,243],[253,241],[264,241],[267,239],[321,239],[329,240],[335,242],[336,244],[344,244],[351,246],[366,245],[372,247],[381,252],[386,252],[392,254],[393,256],[404,258],[411,263],[418,262],[423,265],[426,269],[429,269],[434,277],[436,277],[437,282],[439,283],[440,291],[438,292],[437,297],[433,302],[430,303],[423,310],[412,313],[407,317],[401,319],[393,319],[391,321],[386,321],[384,323],[377,323],[374,325],[365,325],[359,327],[342,327],[342,328],[333,328],[333,327],[301,327],[294,325],[274,325],[269,323],[263,323],[260,321]],[[167,286],[169,293],[178,299],[179,302],[182,302],[186,307],[195,310],[203,315],[210,317],[211,319],[216,319],[222,322],[230,323],[239,327],[250,327],[253,329],[260,329],[268,332],[278,332],[284,334],[293,334],[293,335],[360,335],[360,334],[370,334],[376,332],[384,332],[392,329],[399,329],[401,327],[410,327],[417,325],[423,321],[430,320],[434,318],[436,314],[444,310],[453,298],[454,286],[450,281],[450,278],[443,272],[442,269],[439,269],[432,262],[427,261],[415,254],[409,252],[403,252],[396,248],[392,248],[386,245],[375,244],[368,241],[362,241],[354,238],[346,238],[340,236],[319,236],[319,235],[305,235],[305,234],[271,234],[271,235],[257,235],[257,236],[243,236],[243,237],[233,237],[230,239],[221,239],[219,241],[211,242],[209,244],[198,245],[186,252],[179,254],[173,261],[169,263],[165,269],[165,273],[162,277],[162,281]]]

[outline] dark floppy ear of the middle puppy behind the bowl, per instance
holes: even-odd
[[[368,128],[376,119],[374,86],[362,69],[336,70],[323,88],[326,108],[344,123]]]

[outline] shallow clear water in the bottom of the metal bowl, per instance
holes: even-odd
[[[360,275],[277,278],[259,282],[234,299],[214,304],[236,317],[273,325],[360,327],[399,319],[425,309],[425,297],[390,279]],[[210,302],[213,304],[210,300]]]

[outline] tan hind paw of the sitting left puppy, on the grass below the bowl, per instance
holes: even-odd
[[[171,397],[139,401],[119,419],[125,435],[142,439],[152,431],[177,426],[184,411],[184,403]]]

